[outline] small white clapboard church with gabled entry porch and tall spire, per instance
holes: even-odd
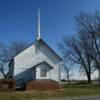
[[[60,82],[62,59],[40,37],[39,11],[37,26],[35,42],[16,55],[9,64],[9,75],[16,80],[16,86],[38,79]]]

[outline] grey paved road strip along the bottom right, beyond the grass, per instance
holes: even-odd
[[[83,97],[70,97],[70,98],[55,98],[55,99],[50,99],[50,100],[100,100],[100,96],[83,96]]]

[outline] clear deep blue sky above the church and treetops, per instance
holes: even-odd
[[[41,12],[41,36],[57,51],[57,42],[75,33],[74,16],[100,10],[100,0],[0,0],[0,42],[33,42],[37,9]]]

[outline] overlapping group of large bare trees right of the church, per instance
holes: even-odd
[[[75,20],[76,33],[63,37],[58,43],[65,67],[68,70],[68,64],[77,65],[76,68],[86,74],[88,83],[91,83],[91,74],[97,70],[100,81],[100,12],[81,12]]]

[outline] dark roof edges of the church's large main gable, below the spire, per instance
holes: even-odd
[[[61,58],[52,48],[50,48],[50,47],[47,45],[47,43],[43,41],[43,39],[39,39],[39,40],[36,40],[36,41],[38,41],[39,43],[43,43],[48,49],[50,49],[50,51],[51,51],[52,53],[54,53],[54,54],[62,61],[62,58]],[[28,49],[31,45],[35,45],[36,41],[35,41],[34,43],[30,44],[26,49]],[[26,49],[24,49],[23,51],[25,51]],[[22,51],[22,52],[23,52],[23,51]],[[21,54],[22,52],[20,52],[19,54]],[[17,55],[19,55],[19,54],[17,54]],[[17,56],[17,55],[16,55],[16,56]],[[16,57],[16,56],[14,56],[14,57]],[[13,57],[13,58],[14,58],[14,57]],[[12,58],[12,59],[13,59],[13,58]]]

